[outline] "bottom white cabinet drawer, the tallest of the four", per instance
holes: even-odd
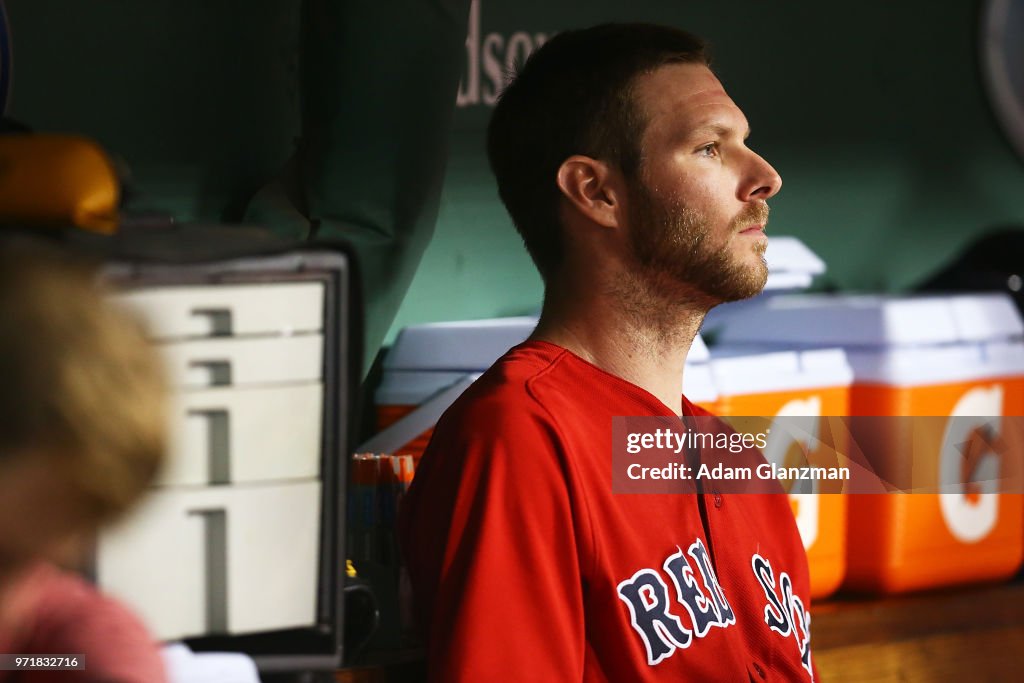
[[[321,485],[162,489],[100,537],[99,586],[161,639],[315,621]]]

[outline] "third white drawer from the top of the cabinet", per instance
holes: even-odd
[[[157,485],[315,478],[323,403],[319,383],[179,391]]]

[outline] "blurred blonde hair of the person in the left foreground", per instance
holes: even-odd
[[[163,367],[109,294],[81,259],[0,242],[0,461],[51,454],[97,523],[141,496],[167,447]]]

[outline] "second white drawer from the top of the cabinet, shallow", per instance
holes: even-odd
[[[157,348],[171,384],[183,388],[318,382],[321,335],[247,339],[197,339]]]

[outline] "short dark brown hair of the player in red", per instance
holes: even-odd
[[[499,195],[545,280],[562,258],[558,167],[579,154],[635,177],[646,123],[634,85],[670,63],[708,66],[707,46],[670,27],[604,24],[556,35],[502,93],[487,156]]]

